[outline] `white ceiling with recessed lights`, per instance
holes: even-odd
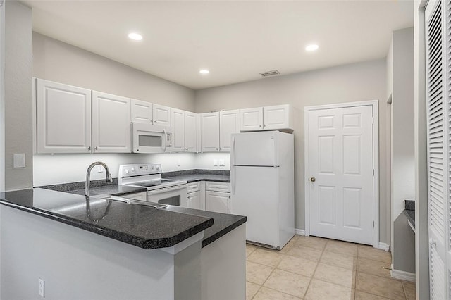
[[[402,0],[23,2],[36,32],[192,89],[385,58],[393,30],[414,22]]]

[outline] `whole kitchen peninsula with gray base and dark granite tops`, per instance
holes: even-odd
[[[49,189],[0,193],[1,296],[245,299],[246,218]]]

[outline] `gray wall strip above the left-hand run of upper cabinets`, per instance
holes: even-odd
[[[33,32],[33,76],[175,108],[194,110],[194,91]]]

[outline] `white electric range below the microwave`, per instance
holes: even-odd
[[[147,201],[187,207],[187,181],[161,178],[161,164],[120,165],[118,184],[147,188]]]

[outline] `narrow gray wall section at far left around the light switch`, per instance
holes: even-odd
[[[5,17],[5,189],[32,187],[32,11],[6,1]],[[13,168],[24,153],[26,168]]]

